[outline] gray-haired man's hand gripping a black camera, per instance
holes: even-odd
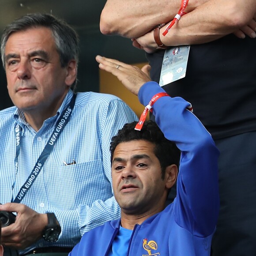
[[[0,211],[17,212],[15,223],[2,228],[2,244],[25,249],[42,237],[42,231],[48,223],[46,214],[39,214],[21,203],[0,205]]]

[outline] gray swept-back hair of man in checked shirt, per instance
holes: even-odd
[[[10,35],[15,32],[26,31],[38,27],[49,28],[52,31],[62,68],[67,67],[70,60],[75,60],[78,64],[79,39],[75,30],[64,20],[58,19],[53,15],[34,13],[16,19],[4,29],[4,34],[1,38],[1,55],[4,69],[5,46]]]

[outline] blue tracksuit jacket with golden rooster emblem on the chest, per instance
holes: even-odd
[[[163,91],[157,83],[145,83],[139,100],[147,105]],[[219,152],[188,105],[179,97],[162,97],[153,105],[158,126],[181,150],[177,197],[164,211],[134,227],[128,256],[210,255],[219,210]],[[107,256],[119,226],[120,219],[113,220],[85,233],[69,256]],[[143,243],[151,248],[146,250]]]

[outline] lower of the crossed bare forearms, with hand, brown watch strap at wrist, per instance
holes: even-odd
[[[168,24],[162,27],[160,38],[169,46],[207,43],[231,33],[241,38],[245,33],[254,38],[255,13],[256,0],[210,0],[183,15],[165,37],[162,33]],[[157,46],[152,31],[133,40],[133,45],[148,53]]]

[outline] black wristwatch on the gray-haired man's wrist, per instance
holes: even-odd
[[[54,213],[47,213],[48,225],[42,233],[43,238],[49,242],[56,242],[59,238],[61,228],[57,223],[57,219]]]

